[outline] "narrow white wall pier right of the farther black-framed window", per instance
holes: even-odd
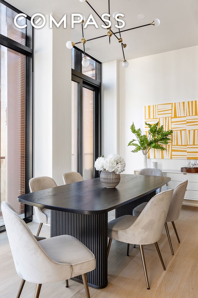
[[[102,64],[102,154],[119,154],[119,62]]]

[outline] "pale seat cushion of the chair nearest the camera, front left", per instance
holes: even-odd
[[[71,277],[87,273],[96,267],[93,253],[72,236],[52,237],[39,241],[39,244],[53,261],[71,265]]]

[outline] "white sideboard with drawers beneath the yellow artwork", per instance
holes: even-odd
[[[140,169],[135,170],[134,174],[138,174]],[[171,181],[162,187],[162,191],[174,188],[181,181],[188,180],[186,194],[183,200],[183,205],[198,207],[198,174],[181,173],[180,170],[162,170],[162,175],[170,177]]]

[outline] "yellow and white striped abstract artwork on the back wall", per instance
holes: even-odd
[[[145,122],[159,121],[165,130],[173,130],[166,151],[150,149],[148,158],[198,159],[198,101],[145,106]],[[148,132],[145,126],[145,133]]]

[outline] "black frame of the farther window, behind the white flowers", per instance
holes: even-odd
[[[71,80],[79,84],[78,88],[78,120],[77,120],[77,171],[81,175],[83,174],[83,127],[82,127],[82,115],[83,115],[83,87],[94,91],[94,106],[93,106],[93,178],[100,177],[100,172],[94,168],[94,161],[98,156],[101,156],[102,149],[102,114],[101,114],[101,68],[102,63],[97,59],[86,53],[86,56],[96,61],[96,79],[90,78],[82,73],[82,54],[84,53],[77,47],[75,49],[75,69],[71,69]]]

